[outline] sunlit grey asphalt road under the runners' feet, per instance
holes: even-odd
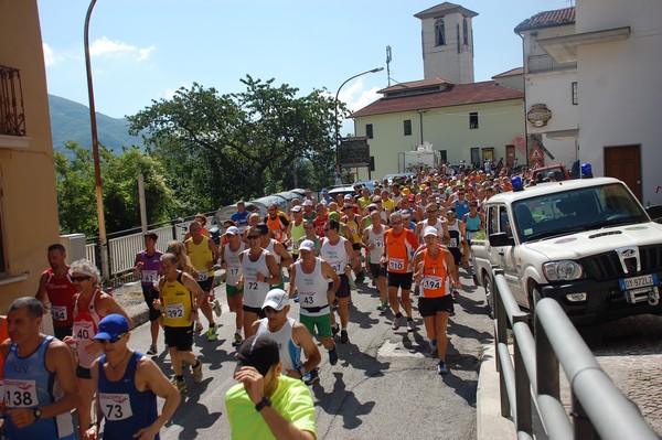
[[[340,361],[335,366],[329,365],[321,347],[321,380],[311,387],[319,439],[476,439],[479,358],[492,333],[483,290],[463,272],[461,280],[465,288],[448,328],[450,374],[446,376],[436,372],[416,307],[418,329],[413,333],[406,328],[394,332],[393,313],[380,315],[375,309],[377,291],[370,283],[359,285],[359,291],[352,294],[350,343],[337,340]],[[217,288],[226,311],[224,291],[224,286]],[[298,315],[298,304],[292,303],[290,315]],[[203,358],[204,379],[194,384],[188,375],[189,389],[161,430],[162,439],[231,436],[224,396],[235,384],[235,350],[231,345],[234,314],[224,313],[220,323],[218,341],[195,336],[194,352]],[[160,336],[161,353],[154,359],[170,376],[162,341]],[[147,350],[148,325],[134,330],[129,345]]]

